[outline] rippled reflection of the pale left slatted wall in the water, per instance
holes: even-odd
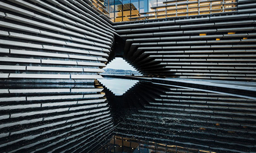
[[[94,152],[114,129],[102,87],[1,85],[0,152]]]

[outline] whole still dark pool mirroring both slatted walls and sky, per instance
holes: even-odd
[[[256,152],[256,100],[105,80],[2,84],[0,152]]]

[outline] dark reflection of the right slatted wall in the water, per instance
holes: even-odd
[[[98,152],[256,151],[254,99],[143,81],[105,92],[117,126]]]

